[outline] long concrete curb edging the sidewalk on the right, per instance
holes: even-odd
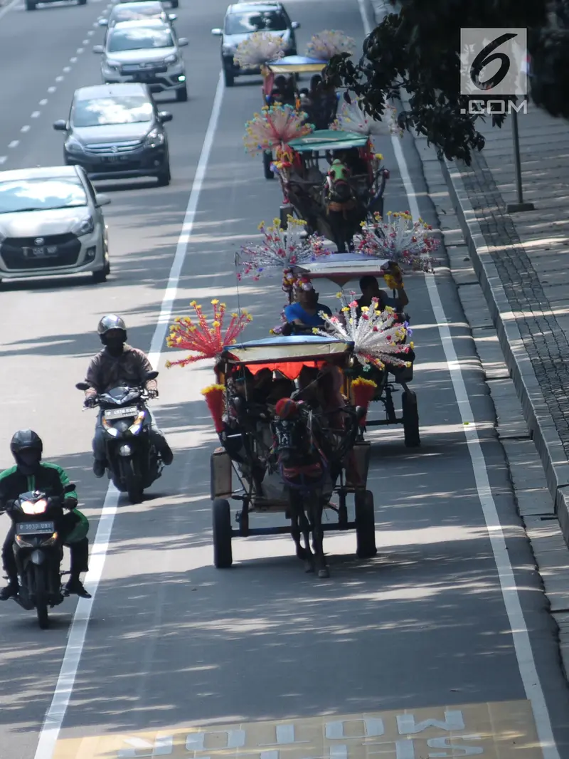
[[[476,215],[464,188],[461,172],[446,159],[441,161],[442,174],[464,237],[470,250],[473,269],[483,289],[492,321],[505,357],[506,365],[514,380],[517,396],[523,408],[528,429],[536,444],[545,471],[547,487],[555,503],[564,540],[569,545],[569,508],[564,488],[569,487],[569,464],[564,455],[561,439],[549,414],[545,398],[527,355],[515,314],[506,297],[498,271],[492,261],[486,240],[480,230]]]

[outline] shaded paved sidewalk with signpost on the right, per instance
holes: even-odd
[[[569,543],[569,124],[536,109],[518,117],[524,200],[511,119],[485,125],[470,167],[442,165],[508,370]]]

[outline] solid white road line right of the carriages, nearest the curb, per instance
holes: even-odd
[[[399,166],[401,180],[407,194],[408,208],[413,219],[420,217],[419,204],[417,203],[417,194],[411,181],[407,161],[401,148],[401,138],[391,137],[395,158]],[[523,682],[523,688],[529,699],[533,716],[536,720],[537,734],[539,735],[539,745],[543,752],[544,759],[560,759],[555,737],[553,735],[552,723],[543,694],[542,684],[539,681],[539,675],[536,668],[536,662],[533,658],[532,644],[530,634],[527,631],[526,619],[523,616],[523,609],[520,603],[520,595],[517,590],[516,578],[508,556],[508,546],[502,530],[498,509],[486,469],[486,461],[480,439],[476,432],[476,427],[472,424],[474,414],[468,393],[464,384],[461,362],[458,361],[457,352],[454,348],[454,342],[451,330],[448,329],[448,319],[445,310],[442,307],[439,288],[437,287],[435,276],[427,274],[425,276],[427,291],[431,301],[432,313],[435,316],[435,322],[439,329],[442,348],[445,351],[445,359],[448,365],[448,372],[451,375],[451,382],[454,388],[454,395],[457,398],[458,409],[461,413],[461,419],[464,426],[464,436],[467,439],[468,452],[474,473],[476,483],[476,492],[482,511],[486,529],[488,530],[494,561],[498,570],[498,581],[500,583],[501,597],[504,600],[508,622],[510,623],[514,650],[516,652],[517,666],[520,669],[520,676]],[[466,425],[466,423],[469,423]]]

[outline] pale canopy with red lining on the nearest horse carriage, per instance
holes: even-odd
[[[347,364],[354,343],[319,335],[291,335],[227,345],[221,354],[228,364],[247,366],[252,374],[262,369],[297,379],[303,367],[322,369],[326,364]]]

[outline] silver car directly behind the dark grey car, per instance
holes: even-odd
[[[93,52],[103,56],[105,84],[139,82],[152,93],[175,93],[183,102],[187,84],[180,48],[186,45],[187,39],[178,39],[169,23],[149,18],[115,24],[108,30],[105,45],[93,46]]]

